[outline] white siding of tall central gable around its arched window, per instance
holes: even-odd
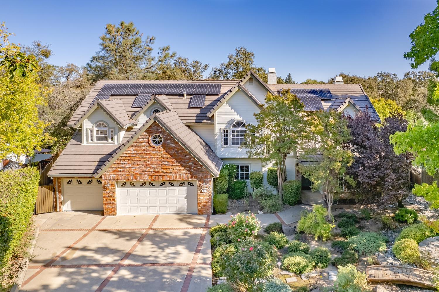
[[[223,146],[222,129],[230,128],[235,121],[244,121],[246,124],[255,124],[254,113],[259,107],[253,103],[245,93],[238,90],[215,113],[216,155],[219,158],[247,158],[247,150],[239,146]]]

